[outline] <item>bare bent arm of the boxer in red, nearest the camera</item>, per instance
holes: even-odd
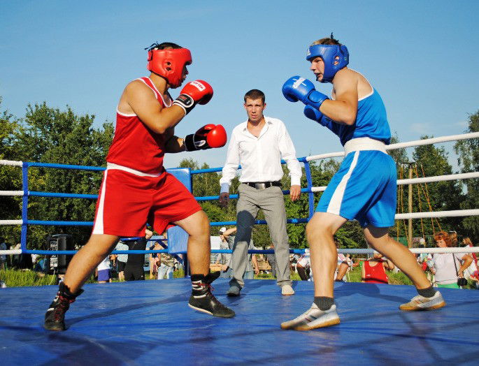
[[[155,133],[165,133],[185,117],[185,111],[179,105],[162,108],[152,90],[139,80],[127,85],[123,98],[138,118]]]

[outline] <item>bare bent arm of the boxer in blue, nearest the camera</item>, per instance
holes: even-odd
[[[336,99],[325,100],[320,106],[320,112],[336,123],[352,126],[357,115],[357,77],[354,71],[336,73],[333,85]]]

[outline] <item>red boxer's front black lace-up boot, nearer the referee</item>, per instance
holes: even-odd
[[[188,306],[192,309],[198,310],[213,316],[220,316],[221,318],[232,318],[235,316],[234,311],[225,307],[221,302],[215,298],[211,291],[211,282],[220,277],[220,272],[203,274],[192,274],[192,295]]]

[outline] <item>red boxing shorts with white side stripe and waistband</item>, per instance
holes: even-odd
[[[201,210],[192,193],[169,173],[110,166],[114,164],[103,173],[92,234],[145,236],[147,222],[161,234]]]

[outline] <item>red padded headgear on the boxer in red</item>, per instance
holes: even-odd
[[[148,51],[146,68],[166,79],[171,87],[181,84],[181,75],[185,65],[192,63],[192,54],[187,48],[171,48],[169,50]]]

